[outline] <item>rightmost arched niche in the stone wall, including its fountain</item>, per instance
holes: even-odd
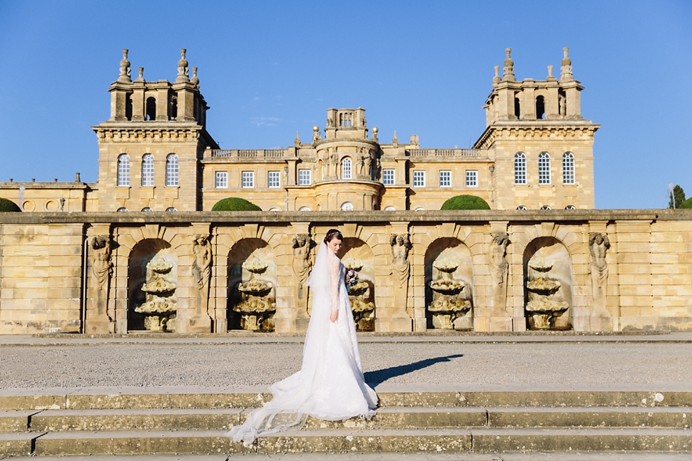
[[[572,272],[569,251],[555,237],[531,240],[524,250],[524,312],[531,330],[572,328]]]

